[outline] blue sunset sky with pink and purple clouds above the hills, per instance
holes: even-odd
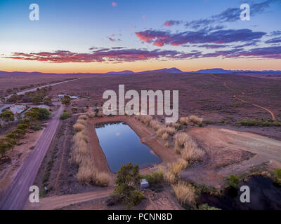
[[[1,0],[0,71],[281,70],[280,22],[281,0]]]

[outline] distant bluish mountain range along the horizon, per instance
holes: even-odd
[[[115,76],[115,75],[133,75],[133,74],[142,74],[142,73],[152,73],[152,72],[166,72],[166,73],[230,73],[230,74],[281,74],[281,71],[274,71],[274,70],[265,70],[265,71],[251,71],[251,70],[225,70],[225,69],[202,69],[198,71],[181,71],[177,68],[171,68],[171,69],[157,69],[157,70],[150,70],[150,71],[141,71],[141,72],[133,72],[133,71],[110,71],[107,73],[65,73],[66,75],[79,75],[79,74],[91,74],[91,75],[109,75],[109,76]],[[8,72],[8,71],[0,71],[0,75],[4,74],[13,74],[13,76],[16,75],[24,75],[24,74],[30,74],[30,75],[51,75],[54,73],[41,73],[41,72],[21,72],[21,71],[15,71],[15,72]]]

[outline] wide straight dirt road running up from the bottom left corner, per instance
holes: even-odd
[[[17,176],[15,176],[11,187],[7,190],[4,194],[4,198],[1,200],[0,209],[23,209],[25,201],[30,194],[30,186],[33,185],[41,162],[43,161],[46,152],[51,145],[51,141],[55,136],[55,131],[57,130],[60,122],[61,113],[63,113],[63,106],[60,106],[53,118],[51,118],[48,126],[41,134],[40,139],[37,141],[34,151],[25,160],[24,165],[22,165],[22,168],[18,172]]]

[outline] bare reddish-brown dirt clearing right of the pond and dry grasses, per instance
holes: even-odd
[[[221,127],[193,128],[188,134],[206,155],[181,174],[185,180],[220,188],[230,174],[241,175],[264,163],[281,167],[281,141]]]

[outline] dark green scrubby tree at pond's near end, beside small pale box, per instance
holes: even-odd
[[[130,163],[122,165],[117,173],[117,186],[115,187],[113,196],[117,200],[122,200],[127,209],[139,204],[143,198],[141,192],[136,190],[139,188],[141,176],[138,165],[133,166]]]

